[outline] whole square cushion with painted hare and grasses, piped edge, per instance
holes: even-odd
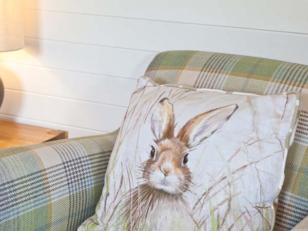
[[[95,215],[79,230],[272,230],[299,95],[160,86],[142,77]]]

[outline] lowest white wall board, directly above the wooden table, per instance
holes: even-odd
[[[38,121],[38,120],[32,120],[32,119],[27,119],[27,118],[22,118],[22,117],[16,117],[16,116],[7,115],[7,114],[0,114],[0,120],[6,120],[6,121],[12,121],[16,123],[29,124],[29,125],[38,126],[38,127],[46,127],[50,129],[59,129],[59,130],[68,131],[68,138],[76,138],[76,137],[83,137],[83,136],[96,136],[99,134],[106,133],[102,131],[94,131],[94,130],[88,130],[88,129],[83,129],[83,128],[76,128],[76,127],[67,126],[67,125],[49,123],[45,121]]]

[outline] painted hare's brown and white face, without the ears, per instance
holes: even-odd
[[[191,172],[187,167],[187,147],[179,139],[160,141],[150,147],[150,159],[146,161],[143,178],[152,188],[169,194],[181,194],[191,184]]]

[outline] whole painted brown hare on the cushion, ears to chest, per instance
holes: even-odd
[[[141,166],[142,183],[127,192],[124,204],[129,231],[194,230],[197,221],[187,205],[185,192],[193,185],[188,153],[219,129],[237,110],[232,104],[190,119],[175,134],[175,115],[169,99],[162,99],[151,117],[155,137],[149,159]]]

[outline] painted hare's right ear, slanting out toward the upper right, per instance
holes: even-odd
[[[187,147],[196,146],[220,128],[237,109],[238,105],[232,104],[199,114],[181,128],[178,138]]]

